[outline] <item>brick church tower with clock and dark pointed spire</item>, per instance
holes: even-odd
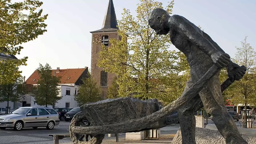
[[[117,34],[118,28],[116,13],[113,4],[113,0],[109,0],[107,12],[105,14],[102,28],[96,31],[92,31],[92,60],[91,60],[91,74],[96,79],[97,83],[102,88],[102,98],[107,95],[108,87],[111,85],[115,74],[107,73],[103,68],[97,66],[99,59],[99,52],[101,50],[101,43],[109,47],[111,44],[108,42],[109,39],[119,39]]]

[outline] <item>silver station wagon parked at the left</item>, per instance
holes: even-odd
[[[52,108],[22,107],[10,114],[0,116],[0,129],[13,128],[20,131],[23,127],[46,127],[52,130],[60,124],[59,114]]]

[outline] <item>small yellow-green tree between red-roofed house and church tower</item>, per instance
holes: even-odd
[[[83,84],[79,87],[79,93],[75,95],[75,100],[79,105],[101,100],[102,94],[100,87],[93,77],[91,77],[90,72],[88,72],[87,76],[87,78],[82,79]]]

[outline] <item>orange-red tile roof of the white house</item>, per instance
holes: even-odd
[[[52,75],[54,75],[54,71],[55,71],[57,77],[61,76],[60,84],[75,84],[78,78],[86,70],[86,68],[60,69],[60,70],[52,69]],[[37,81],[39,79],[40,79],[40,74],[37,72],[37,70],[35,70],[34,73],[28,77],[28,79],[26,80],[26,83],[37,84]]]

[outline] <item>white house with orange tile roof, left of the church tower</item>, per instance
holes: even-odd
[[[78,89],[82,84],[82,78],[87,77],[88,68],[76,68],[76,69],[60,69],[52,70],[53,74],[56,76],[61,76],[60,79],[60,100],[55,103],[54,106],[47,106],[49,108],[76,108],[78,107],[78,103],[75,100],[75,95],[78,93]],[[35,71],[27,80],[27,84],[31,84],[33,86],[37,86],[37,80],[40,76],[38,76],[37,71]],[[36,103],[36,100],[33,97],[32,93],[28,93],[24,97],[24,101],[26,101],[26,105],[30,105],[31,107],[44,107],[39,106]]]

